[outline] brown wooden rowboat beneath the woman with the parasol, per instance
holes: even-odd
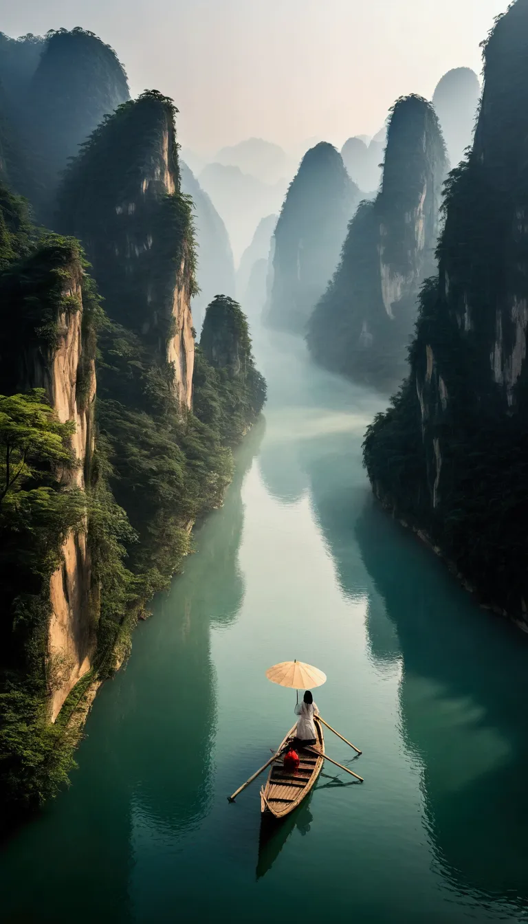
[[[263,821],[266,817],[286,818],[294,808],[301,804],[302,799],[308,796],[313,788],[324,760],[314,753],[325,753],[325,736],[323,725],[317,716],[314,716],[317,742],[313,748],[296,748],[300,764],[298,770],[285,770],[283,755],[288,750],[289,741],[295,734],[296,725],[290,729],[278,748],[278,757],[271,765],[265,785],[261,788],[261,811]]]

